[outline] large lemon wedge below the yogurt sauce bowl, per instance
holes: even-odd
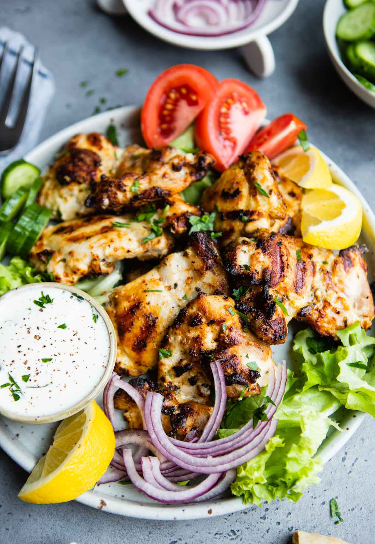
[[[114,449],[112,425],[92,401],[60,423],[52,446],[29,475],[19,498],[35,504],[77,498],[106,472]]]

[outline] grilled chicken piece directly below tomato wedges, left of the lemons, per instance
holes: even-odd
[[[280,177],[263,153],[254,151],[242,154],[205,190],[202,208],[219,210],[215,230],[223,233],[220,244],[227,245],[260,232],[300,232],[301,199],[302,190]]]

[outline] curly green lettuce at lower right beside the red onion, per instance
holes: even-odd
[[[375,416],[375,338],[358,323],[337,336],[340,344],[310,329],[294,338],[296,372],[288,370],[276,432],[260,455],[237,468],[231,486],[244,503],[261,506],[262,500],[285,497],[296,502],[319,482],[323,462],[317,450],[330,426],[338,428],[329,416],[340,406]]]

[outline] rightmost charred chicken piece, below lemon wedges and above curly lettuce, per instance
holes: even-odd
[[[293,317],[324,336],[335,337],[355,322],[364,329],[371,326],[366,250],[354,245],[335,255],[300,238],[263,234],[256,242],[239,238],[228,246],[224,267],[233,284],[242,286],[237,310],[247,315],[259,338],[281,344]]]

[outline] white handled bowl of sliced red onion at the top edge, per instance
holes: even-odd
[[[207,51],[242,47],[249,68],[263,77],[275,69],[274,52],[267,34],[279,28],[298,4],[298,0],[123,2],[140,26],[170,44]]]

